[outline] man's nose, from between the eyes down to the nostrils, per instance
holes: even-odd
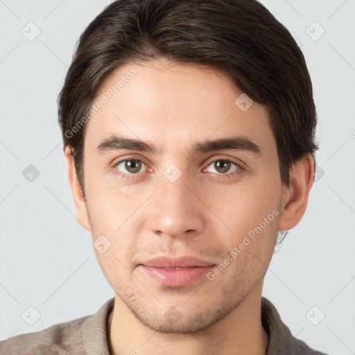
[[[150,230],[172,238],[200,233],[204,227],[204,205],[199,197],[198,185],[187,174],[175,182],[162,175],[159,189],[149,200]]]

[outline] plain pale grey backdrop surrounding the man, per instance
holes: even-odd
[[[107,3],[0,1],[0,340],[95,313],[114,296],[76,222],[56,103],[76,40]],[[320,141],[309,207],[263,295],[311,347],[355,354],[355,0],[262,3],[306,57]],[[32,182],[29,164],[40,172]]]

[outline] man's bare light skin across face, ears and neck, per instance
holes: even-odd
[[[96,255],[115,292],[107,324],[112,354],[265,354],[263,278],[277,231],[290,230],[304,214],[313,159],[300,159],[290,186],[282,184],[266,107],[254,102],[243,112],[234,103],[241,92],[212,69],[164,58],[127,64],[106,81],[96,103],[132,67],[135,76],[87,122],[85,199],[65,149],[78,221],[94,241],[104,235],[111,243]],[[148,141],[157,152],[98,152],[115,134]],[[248,137],[261,155],[189,153],[197,141],[234,135]],[[124,159],[140,159],[139,172],[118,164]],[[218,159],[232,161],[227,172],[218,170]],[[175,182],[164,175],[171,164],[182,173]],[[277,216],[213,280],[169,288],[138,267],[153,257],[185,255],[219,264],[272,211]],[[171,307],[179,314],[173,322],[164,316]]]

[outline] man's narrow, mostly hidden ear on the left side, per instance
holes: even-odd
[[[81,227],[85,230],[91,231],[91,226],[89,223],[89,216],[87,214],[87,206],[85,198],[83,196],[83,191],[81,190],[78,176],[76,175],[76,168],[74,165],[73,152],[70,146],[66,146],[64,149],[65,159],[67,160],[68,168],[68,178],[71,188],[71,193],[73,194],[75,209],[76,209],[76,218]]]

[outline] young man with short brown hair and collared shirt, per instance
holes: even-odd
[[[254,0],[118,0],[59,99],[78,222],[115,297],[1,354],[322,354],[261,297],[313,184],[302,52]]]

